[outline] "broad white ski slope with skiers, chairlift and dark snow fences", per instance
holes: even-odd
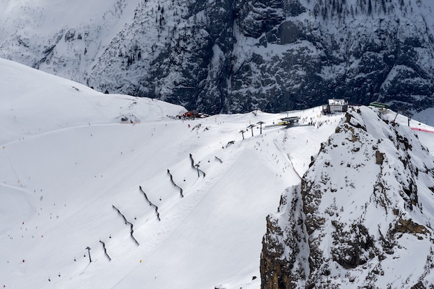
[[[6,288],[260,288],[266,216],[342,118],[315,107],[181,120],[177,105],[0,67]],[[243,139],[285,116],[314,125]]]

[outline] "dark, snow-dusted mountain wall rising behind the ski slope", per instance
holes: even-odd
[[[9,2],[1,57],[101,91],[209,113],[433,106],[428,0],[112,0],[49,28],[48,4]]]

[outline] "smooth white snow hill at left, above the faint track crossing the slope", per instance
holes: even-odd
[[[159,121],[186,111],[149,98],[101,94],[15,62],[1,60],[1,70],[0,143],[89,123]]]

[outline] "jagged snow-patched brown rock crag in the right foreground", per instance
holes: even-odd
[[[433,188],[412,131],[367,107],[347,113],[268,216],[261,288],[431,288]]]

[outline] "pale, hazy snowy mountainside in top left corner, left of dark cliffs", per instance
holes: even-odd
[[[86,83],[139,0],[0,3],[1,57]]]

